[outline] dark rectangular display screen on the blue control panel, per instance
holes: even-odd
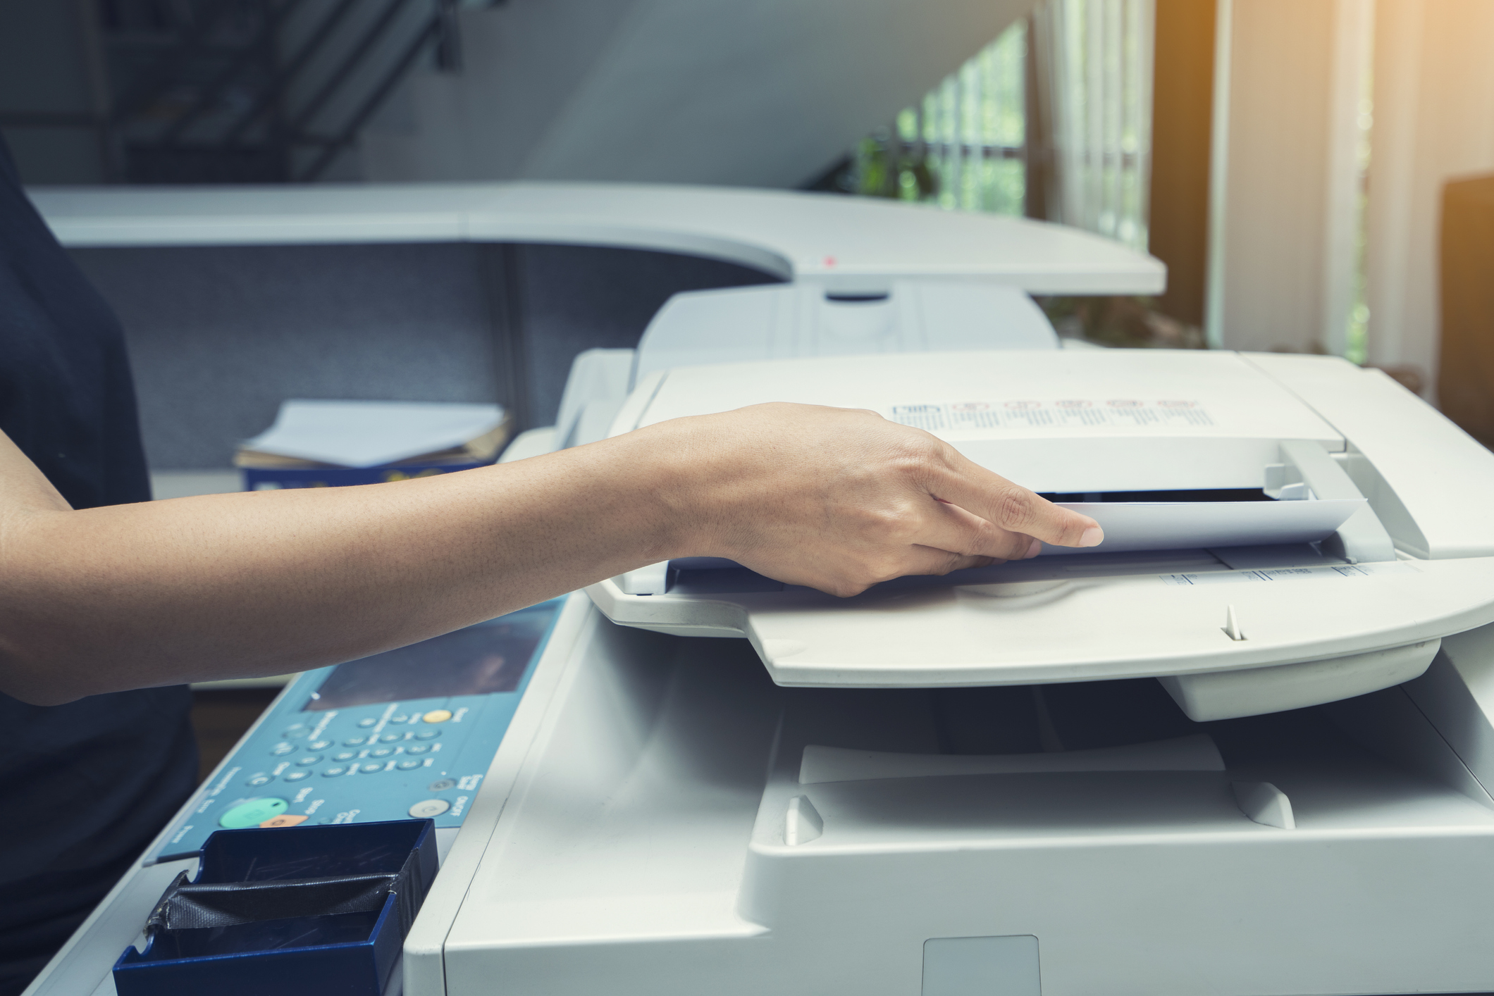
[[[420,644],[350,660],[327,675],[303,711],[514,691],[553,618],[553,611],[536,606]]]

